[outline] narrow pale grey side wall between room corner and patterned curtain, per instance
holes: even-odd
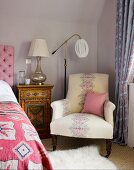
[[[97,71],[109,74],[110,99],[115,90],[116,0],[106,0],[97,31]]]

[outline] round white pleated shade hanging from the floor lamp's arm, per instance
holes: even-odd
[[[75,52],[79,58],[84,58],[88,55],[88,44],[84,39],[78,39],[75,44]]]

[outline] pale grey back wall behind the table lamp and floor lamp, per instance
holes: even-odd
[[[15,83],[19,70],[25,70],[25,59],[28,55],[30,41],[33,38],[47,40],[49,51],[52,52],[66,38],[79,33],[89,44],[87,58],[79,59],[74,52],[74,37],[68,43],[68,74],[77,72],[97,71],[97,26],[71,22],[55,22],[43,18],[10,17],[0,15],[0,43],[15,47]],[[42,59],[42,70],[47,75],[46,83],[54,84],[53,99],[63,97],[63,48],[50,58]],[[32,61],[33,70],[35,60]]]

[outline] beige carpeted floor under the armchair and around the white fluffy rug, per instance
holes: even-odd
[[[51,138],[42,140],[45,148],[52,151]],[[78,139],[58,137],[57,150],[74,149],[87,145],[97,145],[100,154],[105,155],[105,140]],[[109,157],[120,170],[134,170],[134,149],[113,143],[112,153]]]

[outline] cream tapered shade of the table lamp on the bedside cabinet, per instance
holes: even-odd
[[[28,56],[31,57],[49,57],[49,51],[46,40],[44,39],[33,39],[29,49]]]

